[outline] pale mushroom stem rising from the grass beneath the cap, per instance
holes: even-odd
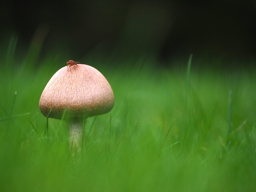
[[[69,148],[72,157],[82,151],[83,144],[83,120],[74,118],[68,123]]]

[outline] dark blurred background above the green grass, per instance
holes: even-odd
[[[256,56],[255,0],[8,0],[0,25],[0,40],[15,34],[22,48],[34,41],[41,55],[58,50],[74,60],[91,53],[120,60],[148,55],[162,63],[190,53]]]

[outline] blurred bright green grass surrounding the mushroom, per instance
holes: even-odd
[[[17,62],[15,46],[13,38],[0,70],[0,191],[256,190],[254,70],[197,68],[191,58],[187,71],[150,59],[116,69],[89,60],[116,101],[86,121],[86,152],[72,157],[65,122],[49,119],[46,134],[38,109],[68,58]]]

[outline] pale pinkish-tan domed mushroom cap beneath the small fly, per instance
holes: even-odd
[[[114,93],[106,78],[92,66],[78,64],[62,67],[46,84],[39,100],[44,116],[61,118],[92,117],[109,112],[114,106]]]

